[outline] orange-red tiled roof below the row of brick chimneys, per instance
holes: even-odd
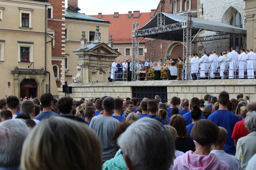
[[[92,17],[98,18],[98,15]],[[132,43],[133,23],[139,22],[140,28],[143,27],[151,20],[151,13],[140,13],[139,18],[133,18],[133,14],[131,18],[128,18],[128,14],[119,14],[118,18],[114,18],[114,15],[102,15],[101,19],[110,21],[108,34],[112,34],[113,43]]]

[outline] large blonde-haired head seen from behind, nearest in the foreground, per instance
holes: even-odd
[[[95,133],[85,123],[61,116],[41,121],[22,148],[22,170],[100,170],[101,165],[101,144]]]

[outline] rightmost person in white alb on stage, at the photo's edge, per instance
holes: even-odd
[[[253,50],[251,49],[246,50],[246,54],[248,56],[248,61],[247,61],[247,78],[248,79],[253,79],[254,78],[254,72],[256,71],[256,55],[255,53],[252,52]]]

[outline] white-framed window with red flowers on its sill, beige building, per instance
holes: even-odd
[[[18,62],[33,62],[33,42],[18,41]]]

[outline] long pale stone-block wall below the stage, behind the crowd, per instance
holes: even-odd
[[[112,82],[112,83],[74,83],[73,93],[75,100],[83,98],[96,98],[111,96],[125,99],[132,98],[132,86],[167,86],[168,102],[173,96],[181,99],[192,97],[203,98],[205,94],[218,96],[221,91],[227,91],[231,98],[236,98],[240,93],[249,96],[250,101],[256,101],[256,79],[243,80],[164,80],[164,81],[137,81],[137,82]]]

